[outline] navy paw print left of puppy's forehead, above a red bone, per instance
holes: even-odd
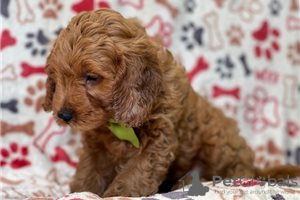
[[[47,53],[50,40],[46,37],[43,30],[39,29],[37,33],[27,33],[26,37],[28,42],[25,44],[25,47],[31,51],[31,55],[36,56],[40,54],[44,56]]]

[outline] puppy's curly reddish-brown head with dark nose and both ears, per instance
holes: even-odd
[[[47,59],[44,108],[79,130],[109,119],[140,126],[158,95],[158,47],[134,19],[111,10],[74,17]]]

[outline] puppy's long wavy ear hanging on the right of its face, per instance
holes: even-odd
[[[113,94],[116,121],[140,126],[149,116],[161,85],[157,49],[147,37],[128,40]]]

